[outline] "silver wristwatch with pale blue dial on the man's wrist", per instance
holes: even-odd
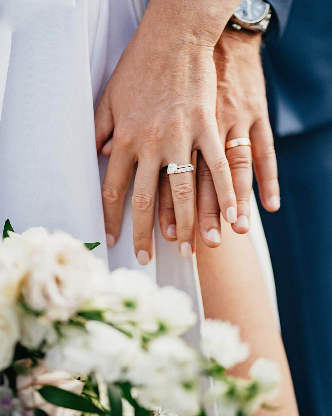
[[[269,3],[263,0],[242,0],[230,19],[230,25],[235,30],[243,28],[264,33],[271,15]]]

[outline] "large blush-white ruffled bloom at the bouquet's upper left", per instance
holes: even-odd
[[[37,227],[9,235],[2,245],[20,265],[23,300],[48,319],[68,321],[93,296],[94,284],[107,275],[101,260],[67,233],[49,234]]]

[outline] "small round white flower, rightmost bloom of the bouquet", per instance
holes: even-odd
[[[252,364],[249,375],[258,382],[265,401],[273,400],[278,396],[281,372],[276,362],[259,358]]]

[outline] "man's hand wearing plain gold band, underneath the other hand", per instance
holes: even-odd
[[[276,156],[267,109],[265,80],[260,59],[261,35],[226,28],[215,47],[217,69],[217,123],[220,142],[250,137],[252,148],[237,146],[226,151],[237,198],[236,233],[249,230],[249,198],[252,188],[251,150],[263,206],[269,211],[280,207]],[[208,247],[220,244],[220,209],[212,174],[204,155],[198,152],[197,212],[200,235]],[[171,223],[170,189],[161,177],[159,214],[162,229]],[[167,208],[167,210],[166,210]],[[169,219],[171,218],[171,219]],[[165,235],[165,234],[164,234]],[[165,235],[165,238],[170,238]]]

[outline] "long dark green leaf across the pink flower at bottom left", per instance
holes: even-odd
[[[71,391],[62,390],[55,386],[44,386],[38,391],[46,401],[55,406],[98,415],[107,414],[84,397],[71,393]]]

